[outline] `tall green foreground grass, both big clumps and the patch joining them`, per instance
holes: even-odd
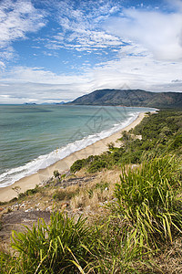
[[[180,168],[171,156],[124,167],[107,214],[88,226],[81,217],[53,213],[49,226],[40,220],[14,232],[16,256],[0,253],[0,273],[150,273],[156,268],[150,254],[182,232]]]

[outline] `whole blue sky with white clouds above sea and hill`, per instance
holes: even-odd
[[[0,0],[0,104],[182,91],[182,0]]]

